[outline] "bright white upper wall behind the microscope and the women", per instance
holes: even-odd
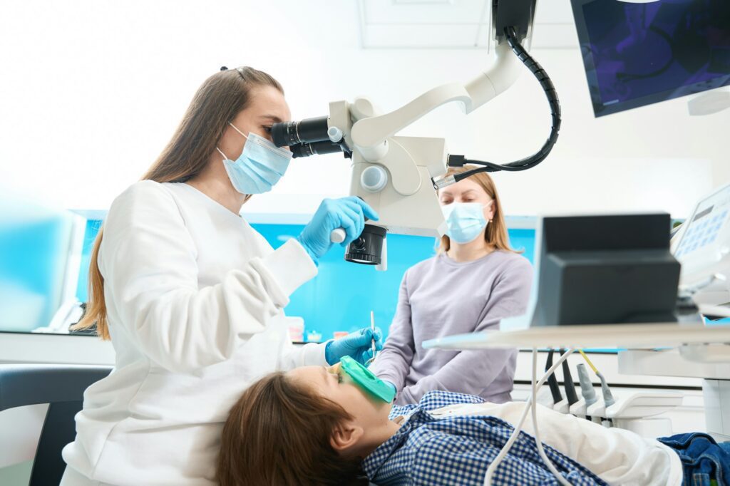
[[[395,109],[488,63],[483,50],[361,50],[357,26],[354,0],[3,2],[0,187],[61,207],[108,207],[154,161],[198,85],[221,65],[273,74],[299,119],[358,95]],[[541,166],[496,175],[508,213],[685,216],[697,197],[730,181],[730,110],[689,117],[678,99],[596,120],[578,51],[534,55],[558,88],[564,123]],[[510,161],[537,150],[549,121],[526,72],[475,114],[443,107],[404,134],[445,136],[452,153]],[[245,209],[311,212],[323,196],[343,195],[348,177],[338,155],[297,160]]]

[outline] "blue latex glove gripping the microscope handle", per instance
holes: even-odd
[[[363,232],[366,217],[378,220],[377,212],[361,198],[325,199],[296,240],[307,250],[312,261],[319,263],[334,244],[330,240],[332,231],[337,228],[345,230],[345,241],[340,243],[345,247]]]

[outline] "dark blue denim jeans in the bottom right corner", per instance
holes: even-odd
[[[730,442],[718,444],[702,432],[679,433],[658,440],[680,456],[683,485],[730,486]]]

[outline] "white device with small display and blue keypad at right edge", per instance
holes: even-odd
[[[698,201],[672,239],[672,253],[682,263],[680,287],[706,293],[698,299],[703,303],[730,301],[730,282],[712,282],[715,275],[730,275],[730,184]]]

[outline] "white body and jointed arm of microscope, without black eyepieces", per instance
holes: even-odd
[[[445,139],[396,134],[453,101],[458,101],[468,115],[507,90],[520,69],[520,60],[503,42],[495,48],[491,68],[471,82],[433,88],[393,112],[380,114],[366,98],[330,103],[330,139],[352,151],[350,195],[364,199],[380,215],[377,223],[369,224],[398,234],[443,234],[444,218],[432,180],[447,171]]]

